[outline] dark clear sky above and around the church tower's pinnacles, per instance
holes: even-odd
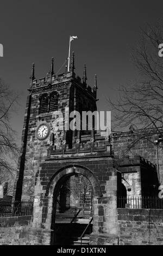
[[[135,76],[129,46],[135,46],[145,21],[153,23],[162,13],[159,0],[1,0],[4,56],[0,57],[0,77],[23,92],[20,109],[12,118],[18,135],[21,137],[33,62],[39,80],[46,77],[54,57],[56,74],[68,57],[70,35],[77,35],[71,44],[75,72],[82,77],[86,64],[91,87],[97,75],[98,109],[109,110],[105,96],[116,96],[112,88]]]

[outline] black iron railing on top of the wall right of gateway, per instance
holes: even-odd
[[[163,209],[163,199],[158,197],[119,197],[117,208]]]

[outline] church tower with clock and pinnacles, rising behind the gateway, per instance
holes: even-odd
[[[46,78],[35,79],[33,63],[30,76],[30,88],[24,117],[22,133],[22,155],[18,163],[17,179],[14,188],[15,200],[33,198],[35,174],[40,162],[45,160],[47,149],[56,150],[80,142],[80,137],[89,131],[72,131],[69,117],[73,111],[96,111],[97,81],[93,88],[87,85],[86,66],[83,78],[74,73],[74,52],[72,53],[70,69],[55,75],[54,59]],[[82,125],[82,119],[80,120]]]

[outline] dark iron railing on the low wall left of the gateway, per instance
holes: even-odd
[[[32,215],[32,201],[0,201],[0,217],[14,217]]]

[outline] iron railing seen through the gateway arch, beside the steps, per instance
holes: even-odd
[[[77,211],[77,207],[61,207],[57,205],[55,212],[55,223],[70,223],[72,220],[73,222],[77,222]],[[74,216],[76,217],[74,218]]]

